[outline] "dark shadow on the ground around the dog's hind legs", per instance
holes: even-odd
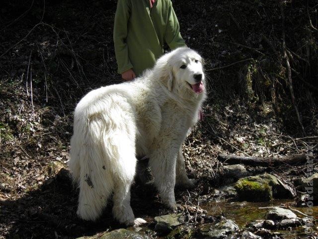
[[[162,210],[156,198],[156,192],[135,184],[131,200],[135,216],[145,218],[147,215],[145,219],[152,223],[153,217]],[[78,190],[73,187],[69,172],[62,168],[39,189],[28,192],[18,200],[0,202],[1,221],[6,225],[1,234],[9,239],[68,239],[125,227],[113,220],[111,202],[96,222],[80,220],[76,215],[77,200]]]

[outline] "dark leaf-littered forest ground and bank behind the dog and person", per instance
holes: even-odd
[[[285,7],[302,130],[279,56],[282,17],[274,1],[172,2],[187,45],[206,60],[209,90],[204,120],[183,146],[187,173],[200,181],[193,190],[177,190],[178,203],[198,205],[222,185],[219,154],[317,157],[318,47],[307,17],[308,10],[317,26],[317,5],[294,1]],[[67,171],[77,102],[92,89],[121,82],[112,41],[116,1],[43,3],[7,1],[1,9],[0,238],[66,239],[122,227],[111,206],[97,222],[78,219],[78,190]],[[306,167],[267,171],[294,187]],[[154,189],[137,183],[131,204],[150,225],[168,212]]]

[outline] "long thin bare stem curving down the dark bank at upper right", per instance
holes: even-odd
[[[294,89],[293,89],[293,80],[292,80],[292,70],[289,64],[289,59],[287,56],[287,51],[286,51],[286,41],[285,41],[285,13],[284,13],[284,8],[283,8],[283,1],[280,2],[280,10],[281,10],[281,16],[282,16],[282,35],[283,35],[283,54],[284,54],[284,58],[286,60],[286,66],[287,66],[287,77],[288,77],[288,86],[289,86],[289,90],[292,96],[292,102],[296,111],[296,115],[297,115],[297,119],[298,122],[302,128],[302,131],[304,133],[304,135],[306,135],[305,132],[305,128],[302,122],[302,119],[300,118],[300,114],[296,105],[296,98],[294,95]]]

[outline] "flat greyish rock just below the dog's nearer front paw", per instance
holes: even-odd
[[[157,222],[155,226],[155,231],[160,235],[168,234],[177,226],[180,226],[184,223],[184,217],[182,213],[179,214],[168,214],[155,218]]]

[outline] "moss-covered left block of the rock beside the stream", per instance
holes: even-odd
[[[235,189],[240,200],[247,202],[268,202],[273,199],[272,188],[266,182],[253,182],[248,179],[239,180]]]

